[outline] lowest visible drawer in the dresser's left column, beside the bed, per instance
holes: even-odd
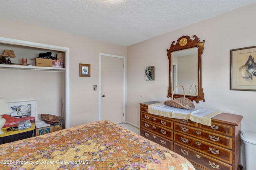
[[[150,141],[153,141],[159,145],[162,145],[163,147],[166,147],[167,149],[173,150],[173,142],[172,141],[164,139],[163,137],[160,137],[160,136],[158,136],[152,132],[146,131],[144,129],[140,129],[140,135]]]

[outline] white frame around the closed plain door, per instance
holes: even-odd
[[[108,57],[116,57],[116,58],[122,58],[124,59],[124,80],[123,80],[123,123],[125,122],[125,117],[126,117],[126,57],[124,56],[119,56],[119,55],[111,55],[111,54],[106,54],[106,53],[99,53],[99,120],[101,120],[101,57],[102,56],[108,56]]]

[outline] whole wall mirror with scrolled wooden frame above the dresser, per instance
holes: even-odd
[[[172,92],[178,84],[182,84],[185,89],[186,98],[203,102],[204,92],[202,89],[202,63],[201,56],[204,50],[204,40],[201,42],[196,35],[182,36],[172,42],[170,49],[167,49],[169,59],[169,89],[168,97],[172,97]],[[182,88],[176,88],[173,98],[184,96]]]

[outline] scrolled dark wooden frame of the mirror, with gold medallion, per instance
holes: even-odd
[[[205,102],[204,99],[204,92],[202,88],[202,54],[204,51],[204,40],[199,41],[199,38],[196,35],[193,35],[193,40],[190,38],[188,35],[183,35],[182,37],[178,38],[177,43],[175,41],[172,41],[172,44],[170,45],[169,49],[167,50],[167,56],[169,59],[169,88],[168,88],[168,96],[167,97],[172,97],[172,52],[174,51],[179,51],[182,49],[189,49],[192,47],[197,47],[198,48],[198,95],[197,96],[190,96],[186,95],[186,98],[189,100],[193,101],[195,100],[196,103],[199,101]],[[174,94],[173,98],[180,98],[183,97],[183,94]]]

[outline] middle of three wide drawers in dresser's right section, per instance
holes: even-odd
[[[211,143],[177,132],[174,132],[173,139],[174,142],[180,143],[184,146],[203,152],[226,163],[232,164],[232,150],[224,149]]]

